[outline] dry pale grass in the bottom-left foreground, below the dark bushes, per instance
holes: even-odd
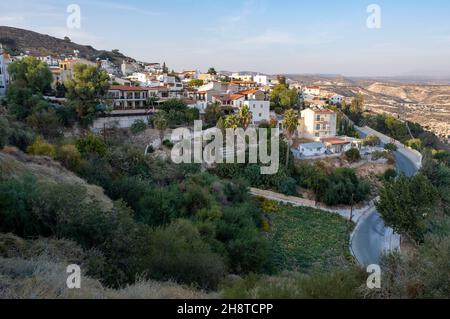
[[[68,289],[66,267],[81,265],[84,253],[73,242],[26,241],[0,234],[0,299],[205,299],[215,294],[172,282],[139,280],[120,290],[108,289],[83,276],[81,289]]]

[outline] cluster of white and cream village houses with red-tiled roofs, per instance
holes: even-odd
[[[12,56],[0,44],[0,97],[4,96],[10,81],[8,66],[20,61],[27,54]],[[110,87],[107,97],[110,111],[92,124],[94,131],[109,126],[129,128],[135,121],[148,121],[149,115],[158,111],[165,101],[178,99],[189,108],[199,111],[202,119],[208,106],[220,107],[225,115],[238,114],[246,107],[251,112],[251,125],[276,122],[282,131],[283,116],[280,110],[271,108],[271,94],[280,81],[286,78],[269,75],[220,73],[214,68],[202,73],[198,70],[169,71],[165,63],[145,63],[123,60],[120,66],[109,59],[96,62],[72,56],[35,56],[44,62],[53,75],[52,91],[48,99],[64,103],[64,83],[73,78],[74,66],[85,64],[98,67],[108,73]],[[305,109],[299,112],[297,141],[293,152],[296,156],[317,156],[325,153],[342,153],[360,145],[354,138],[337,138],[337,113],[329,106],[351,103],[352,98],[322,92],[318,86],[303,86],[290,82],[295,94],[294,105]],[[62,92],[62,93],[61,93]]]

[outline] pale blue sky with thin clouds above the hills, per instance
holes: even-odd
[[[72,3],[80,29],[66,26]],[[381,29],[367,28],[372,3]],[[176,70],[450,76],[448,0],[15,0],[0,3],[0,25]]]

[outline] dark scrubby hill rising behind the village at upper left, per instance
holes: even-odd
[[[120,65],[124,59],[130,59],[118,51],[96,50],[89,45],[71,42],[70,39],[58,39],[46,34],[29,30],[0,26],[0,43],[12,54],[30,52],[31,55],[53,57],[69,56],[74,50],[79,51],[79,57],[90,61],[97,58],[109,58],[111,62]]]

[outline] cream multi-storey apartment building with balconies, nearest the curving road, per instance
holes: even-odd
[[[299,137],[320,140],[336,136],[336,112],[324,108],[308,108],[301,112]]]

